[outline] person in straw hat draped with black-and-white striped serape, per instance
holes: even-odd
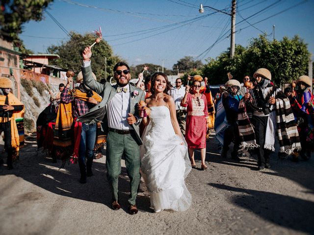
[[[261,68],[253,77],[256,86],[251,93],[244,95],[245,104],[240,102],[238,115],[241,147],[256,148],[258,169],[270,168],[270,153],[275,151],[276,126],[280,154],[289,154],[300,148],[299,136],[291,112],[289,100],[280,88],[271,83],[269,70]],[[246,110],[253,111],[252,124],[248,121]]]

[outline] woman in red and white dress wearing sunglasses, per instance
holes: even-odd
[[[208,128],[208,110],[206,96],[200,93],[201,83],[193,81],[191,89],[185,88],[185,95],[181,106],[187,107],[185,140],[188,145],[188,152],[193,168],[196,168],[194,160],[194,149],[201,149],[201,169],[207,170],[206,157],[206,132]],[[189,93],[189,90],[191,93]]]

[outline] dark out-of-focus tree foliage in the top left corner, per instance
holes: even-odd
[[[30,20],[40,21],[52,0],[1,0],[0,35],[12,42],[18,40],[22,25]]]

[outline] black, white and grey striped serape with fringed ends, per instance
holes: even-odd
[[[285,152],[290,154],[292,151],[299,151],[301,149],[300,139],[298,130],[294,121],[294,116],[290,107],[290,102],[286,98],[280,88],[275,86],[267,87],[264,89],[264,92],[267,92],[267,95],[264,97],[268,101],[269,97],[275,97],[275,104],[271,105],[270,115],[268,117],[266,132],[265,132],[265,143],[264,148],[274,151],[275,143],[275,130],[277,129],[278,141],[280,145],[279,152]],[[239,103],[239,114],[238,114],[238,125],[239,125],[239,135],[240,135],[240,150],[243,149],[252,149],[260,147],[256,143],[254,126],[250,122],[248,116],[248,110],[257,110],[258,107],[255,106],[256,96],[254,93],[252,99],[244,102],[244,99],[241,99]],[[272,112],[273,111],[273,112]]]

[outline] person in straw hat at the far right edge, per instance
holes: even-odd
[[[295,93],[289,96],[291,107],[296,117],[302,150],[301,158],[308,160],[311,157],[314,144],[314,122],[313,122],[313,100],[311,92],[312,79],[303,75],[296,80]],[[293,156],[293,161],[298,161],[297,155]]]

